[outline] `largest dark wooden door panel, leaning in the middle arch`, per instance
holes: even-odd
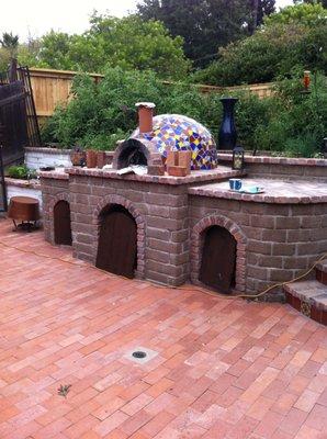
[[[134,278],[137,256],[137,227],[127,211],[102,216],[97,267],[114,274]]]

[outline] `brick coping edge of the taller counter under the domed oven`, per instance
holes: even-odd
[[[65,170],[67,173],[72,176],[88,176],[88,177],[100,177],[115,180],[125,180],[125,181],[142,181],[147,183],[158,183],[158,184],[189,184],[201,181],[210,181],[210,180],[224,180],[232,177],[238,177],[244,175],[239,171],[234,171],[229,167],[218,166],[216,169],[212,169],[208,171],[198,170],[191,171],[191,173],[187,177],[172,177],[168,176],[136,176],[136,175],[125,175],[119,176],[115,169],[90,169],[90,168],[67,168]],[[42,172],[41,176],[44,178],[56,178],[56,172]]]

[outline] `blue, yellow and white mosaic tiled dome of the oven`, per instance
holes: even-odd
[[[153,133],[139,134],[137,128],[131,138],[154,142],[164,157],[167,157],[168,150],[191,150],[193,170],[217,166],[216,144],[210,131],[193,119],[180,114],[155,116]]]

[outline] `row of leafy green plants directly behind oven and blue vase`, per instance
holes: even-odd
[[[246,149],[277,150],[287,155],[314,156],[327,131],[326,77],[315,76],[312,93],[301,93],[300,76],[278,83],[275,94],[259,99],[237,92],[238,142]],[[215,137],[222,121],[219,93],[201,93],[195,86],[162,85],[154,72],[108,69],[99,85],[87,76],[77,77],[72,99],[58,108],[43,130],[44,140],[61,147],[76,145],[114,149],[117,139],[137,126],[135,103],[155,102],[157,114],[177,113],[207,126]]]

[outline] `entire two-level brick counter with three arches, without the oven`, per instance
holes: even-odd
[[[327,251],[327,193],[318,181],[245,179],[266,192],[228,190],[230,168],[187,178],[119,176],[70,168],[41,173],[46,238],[54,241],[55,204],[70,203],[72,250],[95,263],[100,214],[124,206],[137,224],[138,278],[168,285],[199,283],[203,232],[225,227],[237,241],[236,290],[258,293],[289,281]]]

